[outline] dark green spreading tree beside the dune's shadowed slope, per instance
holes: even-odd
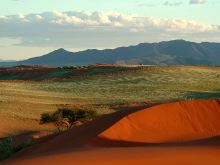
[[[43,113],[41,115],[40,124],[54,123],[58,131],[71,129],[78,123],[90,121],[99,114],[95,110],[82,110],[82,109],[58,109],[54,113]]]

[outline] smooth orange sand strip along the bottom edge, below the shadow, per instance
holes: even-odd
[[[10,165],[219,165],[220,149],[213,148],[101,148],[71,151],[14,161]],[[7,164],[7,165],[8,165]]]

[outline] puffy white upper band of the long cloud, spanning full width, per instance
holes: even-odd
[[[41,14],[17,14],[16,16],[0,16],[0,22],[8,20],[10,25],[20,21],[29,22],[30,24],[38,25],[38,20],[41,20],[39,26],[50,26],[56,28],[61,25],[69,26],[70,28],[80,28],[80,30],[88,29],[103,29],[117,30],[124,29],[127,31],[148,32],[157,30],[161,32],[176,32],[176,33],[205,33],[219,31],[219,26],[203,24],[194,21],[181,19],[159,19],[154,17],[140,17],[135,14],[121,14],[118,12],[46,12]],[[43,25],[42,25],[43,22]],[[7,23],[4,23],[6,26]],[[24,24],[25,25],[25,24]],[[16,26],[16,25],[15,25]],[[35,28],[35,27],[33,27]]]

